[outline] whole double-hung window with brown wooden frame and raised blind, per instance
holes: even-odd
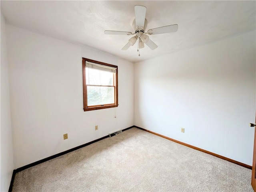
[[[117,66],[83,58],[84,111],[118,106]]]

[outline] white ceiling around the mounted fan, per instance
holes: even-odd
[[[178,24],[178,32],[150,36],[138,56],[131,36],[105,35],[104,30],[133,32],[134,6],[146,6],[148,27]],[[256,29],[256,1],[2,1],[6,22],[47,36],[82,44],[137,62],[164,53],[215,42]],[[186,55],[184,55],[186,56]]]

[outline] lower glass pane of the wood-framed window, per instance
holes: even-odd
[[[114,103],[114,87],[87,86],[87,105]]]

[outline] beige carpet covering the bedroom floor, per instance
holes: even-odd
[[[13,192],[253,192],[252,171],[132,128],[18,172]]]

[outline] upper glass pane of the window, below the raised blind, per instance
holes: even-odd
[[[114,73],[86,68],[87,85],[114,85]]]

